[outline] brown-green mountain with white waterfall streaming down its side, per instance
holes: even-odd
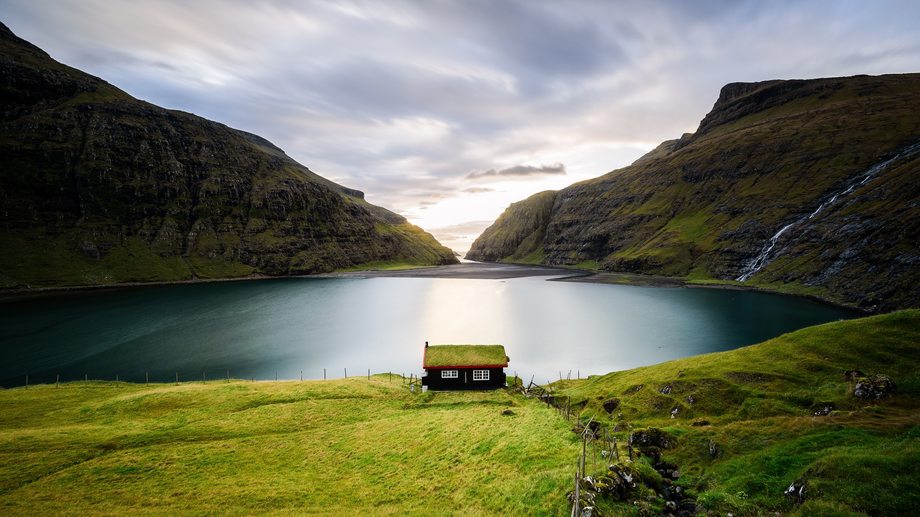
[[[694,133],[512,204],[467,259],[920,305],[920,74],[724,86]]]

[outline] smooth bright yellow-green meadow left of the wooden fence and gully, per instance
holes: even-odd
[[[558,515],[576,443],[504,391],[404,380],[0,392],[6,515]],[[502,416],[512,408],[515,415]]]

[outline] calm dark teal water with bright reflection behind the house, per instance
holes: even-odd
[[[855,317],[764,293],[546,281],[285,278],[0,304],[6,386],[422,373],[425,341],[501,344],[509,374],[609,373]]]

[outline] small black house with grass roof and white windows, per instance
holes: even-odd
[[[498,389],[506,386],[508,366],[501,345],[435,345],[425,343],[422,390],[458,391]]]

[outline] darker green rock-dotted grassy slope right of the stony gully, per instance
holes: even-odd
[[[855,398],[854,382],[843,375],[854,368],[890,376],[894,396]],[[891,515],[920,502],[911,488],[920,474],[920,311],[553,385],[557,396],[587,401],[582,419],[611,430],[619,423],[621,443],[634,429],[671,432],[678,446],[662,459],[679,465],[677,484],[723,514]],[[609,398],[621,402],[608,416],[602,404]],[[815,416],[824,408],[839,416]],[[718,457],[710,456],[710,441]],[[811,495],[798,508],[782,492],[800,477]]]

